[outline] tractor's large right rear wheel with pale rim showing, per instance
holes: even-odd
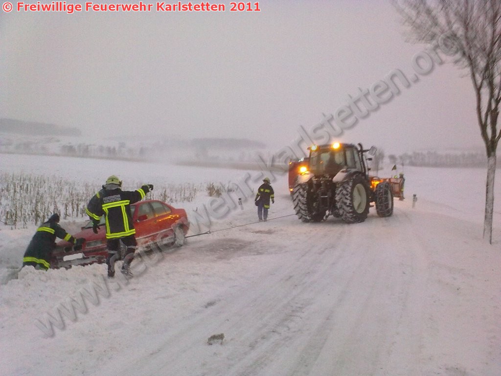
[[[346,223],[364,222],[369,214],[369,196],[369,187],[362,175],[339,183],[336,203],[341,219]]]

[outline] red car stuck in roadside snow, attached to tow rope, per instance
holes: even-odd
[[[189,222],[184,209],[176,209],[158,200],[140,201],[131,205],[132,221],[136,229],[138,249],[160,249],[180,247],[189,230]],[[85,238],[84,244],[73,246],[66,241],[56,245],[52,253],[51,268],[70,268],[72,265],[87,265],[106,262],[106,225],[101,218],[97,234],[92,231],[92,221],[73,234],[75,238]]]

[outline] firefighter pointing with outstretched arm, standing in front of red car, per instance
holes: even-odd
[[[120,258],[120,241],[126,247],[121,272],[132,277],[130,264],[136,251],[136,230],[132,223],[130,204],[141,201],[148,192],[153,190],[152,184],[144,184],[136,191],[122,191],[122,181],[115,175],[106,179],[103,189],[96,193],[87,205],[86,213],[92,220],[92,230],[98,233],[99,221],[105,216],[106,221],[106,248],[108,256],[108,277],[115,276],[115,261]]]

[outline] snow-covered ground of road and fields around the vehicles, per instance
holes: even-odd
[[[110,174],[131,190],[129,181],[160,187],[249,176],[256,191],[264,177],[23,155],[2,155],[0,168],[96,189]],[[104,265],[24,268],[0,285],[0,375],[499,376],[497,174],[492,245],[482,241],[485,170],[405,167],[406,200],[395,201],[390,218],[371,209],[361,224],[302,223],[287,177],[276,175],[270,221],[254,223],[253,200],[244,200],[211,219],[211,234],[135,262],[129,282],[107,280]],[[173,205],[190,219],[207,200],[202,193]],[[82,223],[61,225],[72,232]],[[5,279],[35,230],[0,226]],[[80,311],[68,309],[72,300]],[[222,341],[208,341],[221,333]]]

